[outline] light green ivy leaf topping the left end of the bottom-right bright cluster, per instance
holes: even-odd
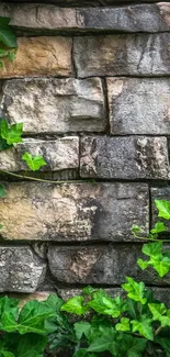
[[[61,311],[82,315],[88,311],[88,306],[84,305],[84,298],[81,295],[69,299],[61,305]]]

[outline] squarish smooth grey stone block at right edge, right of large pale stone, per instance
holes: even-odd
[[[111,134],[170,134],[169,78],[109,78],[107,90]]]

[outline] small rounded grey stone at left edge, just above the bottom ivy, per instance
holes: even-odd
[[[19,220],[19,217],[18,217]],[[34,292],[46,265],[26,246],[0,246],[0,291]]]

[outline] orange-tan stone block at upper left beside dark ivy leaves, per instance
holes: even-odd
[[[0,78],[71,75],[71,38],[20,37],[14,62],[3,62]]]

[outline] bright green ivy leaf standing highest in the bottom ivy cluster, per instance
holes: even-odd
[[[139,301],[143,305],[147,302],[145,298],[145,283],[136,282],[133,278],[126,277],[127,283],[123,283],[122,288],[127,291],[127,297],[132,300]]]

